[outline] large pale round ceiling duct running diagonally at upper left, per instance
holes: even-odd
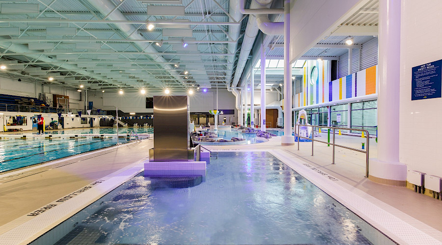
[[[127,18],[118,9],[114,9],[115,5],[110,0],[88,0],[88,2],[95,9],[100,11],[100,13],[102,13],[104,16],[109,15],[109,20],[127,20]],[[113,25],[117,26],[121,31],[126,33],[129,39],[144,39],[141,35],[137,33],[136,28],[131,24],[115,23]],[[147,43],[136,42],[134,43],[134,45],[136,45],[141,50],[145,50],[146,52],[158,53],[157,49],[149,46],[149,44]],[[168,62],[160,55],[160,53],[158,53],[158,55],[149,54],[148,56],[158,62]],[[174,76],[176,80],[182,80],[178,76],[179,74],[172,68],[172,66],[170,66],[169,64],[160,65],[163,66],[163,68],[166,69],[170,74],[172,74],[172,76]]]

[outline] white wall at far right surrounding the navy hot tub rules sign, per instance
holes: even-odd
[[[411,100],[412,68],[442,59],[442,1],[401,5],[399,159],[408,170],[442,176],[442,98]]]

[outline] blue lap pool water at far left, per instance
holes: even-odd
[[[126,139],[120,139],[126,143]],[[111,147],[116,139],[0,140],[0,172]]]

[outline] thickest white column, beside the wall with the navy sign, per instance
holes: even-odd
[[[401,1],[379,1],[378,158],[370,159],[369,178],[401,180],[407,166],[399,163],[399,73]],[[377,177],[377,178],[373,178]]]

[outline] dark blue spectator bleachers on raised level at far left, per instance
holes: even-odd
[[[30,105],[30,100],[34,100],[34,104]],[[38,98],[2,95],[0,94],[0,111],[23,111],[23,112],[40,112],[40,106],[44,101]],[[48,108],[49,112],[50,108]]]

